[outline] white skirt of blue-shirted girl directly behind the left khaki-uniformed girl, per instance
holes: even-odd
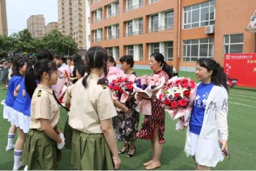
[[[21,112],[13,110],[11,124],[19,127],[26,134],[29,132],[30,116],[26,116]]]

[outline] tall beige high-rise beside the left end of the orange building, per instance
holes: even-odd
[[[89,5],[89,0],[58,0],[58,30],[63,35],[71,35],[78,49],[90,48],[90,42],[87,42],[88,29],[90,35],[90,24],[87,24]]]

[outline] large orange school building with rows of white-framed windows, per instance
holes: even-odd
[[[91,46],[116,60],[133,55],[149,69],[160,52],[180,71],[194,71],[201,57],[223,66],[224,53],[256,52],[255,33],[245,31],[254,0],[90,0]]]

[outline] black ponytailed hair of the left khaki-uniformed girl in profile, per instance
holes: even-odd
[[[57,65],[49,59],[38,60],[34,66],[28,67],[25,75],[25,86],[31,98],[37,87],[37,82],[41,80],[42,74],[47,72],[51,77],[51,73],[54,71],[57,71]]]

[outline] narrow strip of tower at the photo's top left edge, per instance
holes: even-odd
[[[0,35],[8,36],[6,0],[0,0]]]

